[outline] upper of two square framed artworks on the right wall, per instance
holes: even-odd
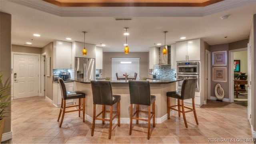
[[[226,66],[227,65],[227,51],[212,52],[212,65],[213,66]]]

